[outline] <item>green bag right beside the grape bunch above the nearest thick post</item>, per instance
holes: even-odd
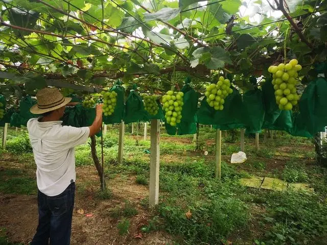
[[[196,112],[198,110],[198,93],[190,86],[190,82],[191,79],[186,78],[186,84],[180,90],[184,93],[184,105],[181,111],[182,118],[177,129],[178,135],[196,133]]]

